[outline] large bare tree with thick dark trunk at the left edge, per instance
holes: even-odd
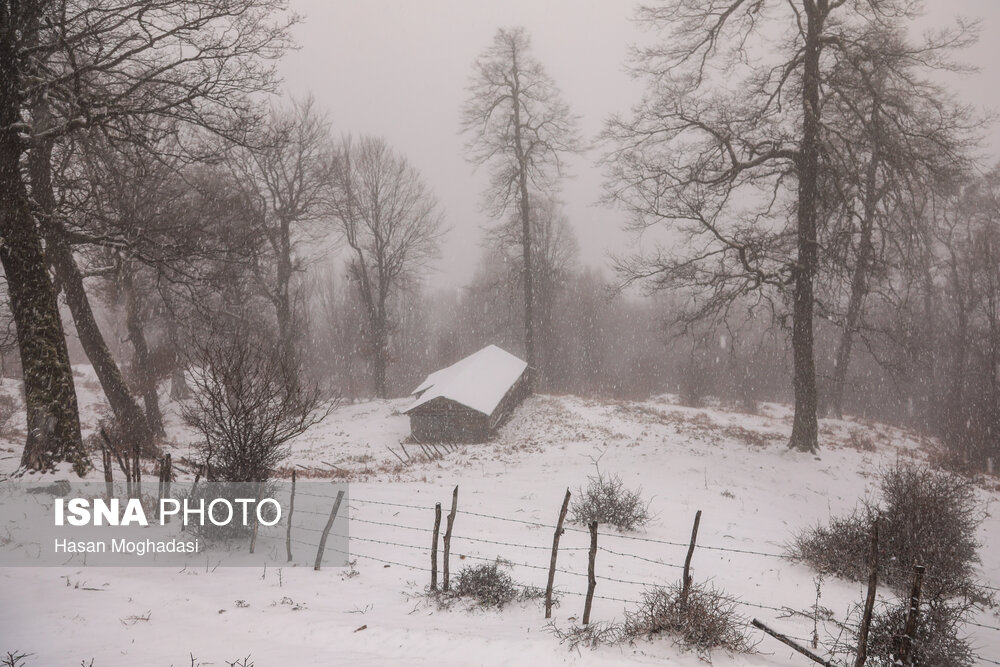
[[[0,262],[27,397],[22,464],[85,458],[72,372],[41,227],[51,208],[54,142],[118,120],[183,119],[221,128],[270,88],[288,43],[280,0],[29,0],[0,4]],[[21,170],[28,153],[31,200]],[[48,172],[48,173],[46,173]],[[37,204],[32,209],[32,202]],[[36,218],[38,218],[36,220]]]

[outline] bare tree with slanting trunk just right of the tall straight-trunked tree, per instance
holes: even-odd
[[[874,26],[842,49],[827,77],[822,270],[846,292],[842,313],[836,294],[824,299],[826,316],[841,328],[828,399],[838,417],[871,283],[884,279],[889,263],[910,261],[893,239],[927,222],[909,213],[911,202],[953,187],[970,166],[979,121],[927,72],[958,69],[948,56],[971,36],[910,44],[898,27]]]

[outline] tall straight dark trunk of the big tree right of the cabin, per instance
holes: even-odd
[[[818,7],[817,4],[823,5]],[[813,357],[813,277],[818,265],[816,207],[819,181],[819,78],[820,36],[825,5],[807,2],[806,42],[802,78],[802,147],[798,160],[798,261],[792,309],[793,386],[795,417],[789,447],[803,452],[819,448],[816,418],[816,365]]]

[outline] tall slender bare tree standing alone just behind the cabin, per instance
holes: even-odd
[[[500,218],[510,209],[521,222],[524,349],[530,369],[535,351],[535,288],[531,245],[531,192],[553,194],[567,153],[580,149],[576,117],[555,82],[531,53],[524,28],[501,28],[473,65],[462,131],[469,159],[490,168],[487,210]]]

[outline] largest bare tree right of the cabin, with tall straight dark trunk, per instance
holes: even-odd
[[[639,18],[665,32],[638,50],[647,94],[606,136],[609,199],[638,230],[679,243],[623,260],[626,283],[681,288],[692,319],[743,297],[790,301],[795,416],[789,445],[818,447],[813,320],[831,76],[872,26],[899,32],[908,0],[667,0]],[[941,42],[954,39],[938,36]],[[929,47],[931,48],[931,47]],[[933,51],[933,48],[931,48]]]

